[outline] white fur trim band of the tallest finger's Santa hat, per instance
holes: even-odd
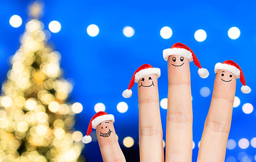
[[[181,55],[186,57],[188,61],[193,61],[192,53],[188,51],[187,49],[181,49],[181,48],[173,48],[173,49],[164,49],[163,50],[163,57],[165,61],[168,60],[168,57],[170,55]]]

